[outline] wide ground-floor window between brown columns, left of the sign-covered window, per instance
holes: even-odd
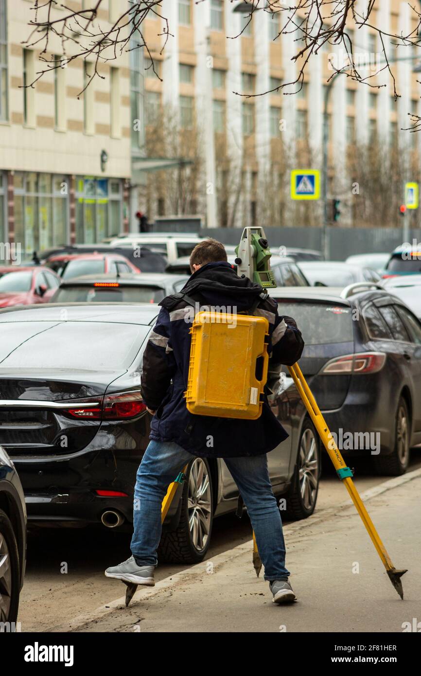
[[[68,242],[68,187],[68,176],[15,172],[15,241],[27,255]]]

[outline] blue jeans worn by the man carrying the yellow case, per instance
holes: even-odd
[[[150,441],[137,470],[134,487],[131,550],[142,566],[157,565],[161,539],[161,505],[168,485],[194,456],[177,443]],[[287,579],[282,521],[272,492],[266,455],[224,458],[241,493],[257,548],[264,565],[265,580]]]

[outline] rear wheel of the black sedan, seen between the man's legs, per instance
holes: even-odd
[[[174,531],[163,531],[159,561],[200,563],[209,549],[214,519],[214,493],[209,463],[194,458],[182,488],[180,521]]]

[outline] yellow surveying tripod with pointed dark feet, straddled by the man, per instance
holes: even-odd
[[[401,582],[401,577],[404,573],[406,573],[406,569],[401,569],[397,570],[395,569],[395,566],[393,566],[393,563],[391,562],[391,558],[389,554],[387,553],[387,550],[385,548],[385,545],[382,543],[380,539],[380,535],[378,535],[378,532],[376,531],[374,527],[374,523],[372,522],[365,506],[364,502],[362,502],[362,499],[360,498],[360,494],[358,493],[357,489],[355,488],[355,485],[352,481],[352,471],[347,467],[345,464],[345,461],[343,460],[343,457],[341,456],[341,453],[339,452],[339,448],[335,444],[334,439],[332,438],[332,435],[330,434],[330,430],[328,429],[328,426],[326,425],[326,421],[324,420],[324,417],[320,413],[320,409],[317,405],[316,400],[314,399],[314,396],[312,394],[312,391],[309,389],[309,386],[307,385],[307,382],[305,381],[305,378],[303,374],[301,373],[301,368],[299,368],[298,364],[293,364],[293,366],[289,366],[289,372],[291,373],[291,377],[295,383],[295,386],[297,387],[297,390],[299,392],[299,395],[301,396],[301,399],[303,400],[303,404],[305,408],[307,409],[307,412],[312,418],[312,422],[314,424],[314,427],[316,427],[316,430],[318,432],[318,435],[320,439],[322,439],[322,443],[324,445],[324,448],[326,448],[326,451],[328,452],[328,456],[330,460],[332,460],[333,466],[335,467],[335,470],[337,470],[337,475],[341,481],[345,484],[345,487],[351,496],[351,500],[353,504],[355,505],[355,508],[357,509],[358,514],[360,514],[362,518],[362,522],[364,523],[364,526],[367,529],[368,535],[370,535],[370,538],[372,539],[372,543],[374,544],[374,547],[376,548],[376,551],[378,553],[378,556],[380,556],[382,560],[382,564],[385,566],[387,575],[389,575],[389,579],[391,580],[391,583],[393,584],[393,587],[395,587],[397,593],[403,599],[403,589],[402,589],[402,582]],[[168,486],[168,491],[166,493],[166,496],[164,500],[162,501],[162,510],[161,510],[161,519],[162,523],[164,523],[164,519],[166,518],[168,509],[170,508],[170,504],[172,502],[172,499],[174,498],[176,494],[176,490],[178,489],[178,486],[180,483],[184,481],[185,478],[185,473],[187,471],[187,465],[183,468],[182,472],[178,475],[175,481],[170,483]],[[259,572],[262,569],[262,561],[260,560],[259,557],[259,552],[257,550],[257,543],[255,539],[255,534],[253,532],[253,566],[256,571],[257,577],[259,576]],[[134,583],[125,583],[127,585],[127,590],[126,590],[126,606],[130,603],[130,600],[133,597],[134,592],[136,592],[137,585]]]

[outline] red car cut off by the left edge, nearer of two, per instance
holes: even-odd
[[[59,284],[59,276],[43,266],[0,266],[0,308],[47,303]]]

